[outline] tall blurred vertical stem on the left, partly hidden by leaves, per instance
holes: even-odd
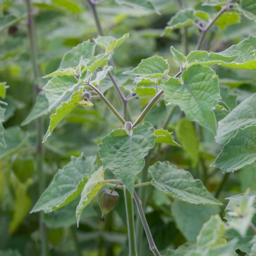
[[[28,29],[29,29],[29,40],[30,40],[30,50],[31,50],[31,62],[33,68],[33,75],[34,75],[34,100],[39,93],[39,87],[35,83],[36,79],[41,77],[40,67],[38,65],[38,46],[37,46],[37,37],[36,37],[36,30],[35,30],[35,22],[34,16],[31,11],[30,0],[26,0],[26,8],[27,8],[27,17],[28,17]],[[38,180],[39,180],[39,195],[44,192],[45,189],[45,175],[43,170],[43,159],[44,159],[44,152],[42,149],[42,136],[43,136],[43,119],[38,118],[36,121],[36,159],[37,159],[37,171],[38,171]],[[40,240],[41,240],[41,256],[48,255],[48,239],[47,239],[47,230],[46,225],[44,223],[44,213],[39,213],[39,233],[40,233]]]

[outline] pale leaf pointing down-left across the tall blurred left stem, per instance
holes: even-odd
[[[45,96],[45,91],[40,91],[35,99],[35,105],[25,118],[25,120],[20,124],[21,126],[29,124],[31,121],[48,114],[49,103]]]

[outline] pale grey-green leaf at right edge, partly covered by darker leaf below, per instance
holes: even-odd
[[[215,140],[217,143],[225,144],[237,133],[238,128],[246,128],[256,125],[256,93],[242,101],[225,118],[218,123]]]

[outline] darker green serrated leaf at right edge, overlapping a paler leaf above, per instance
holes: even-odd
[[[211,166],[224,172],[234,172],[256,159],[256,126],[250,125],[240,129],[236,135],[223,146],[221,153]]]

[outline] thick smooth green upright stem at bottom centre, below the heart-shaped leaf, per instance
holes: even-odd
[[[129,256],[138,256],[134,226],[133,200],[130,192],[124,186],[124,200],[129,238]]]

